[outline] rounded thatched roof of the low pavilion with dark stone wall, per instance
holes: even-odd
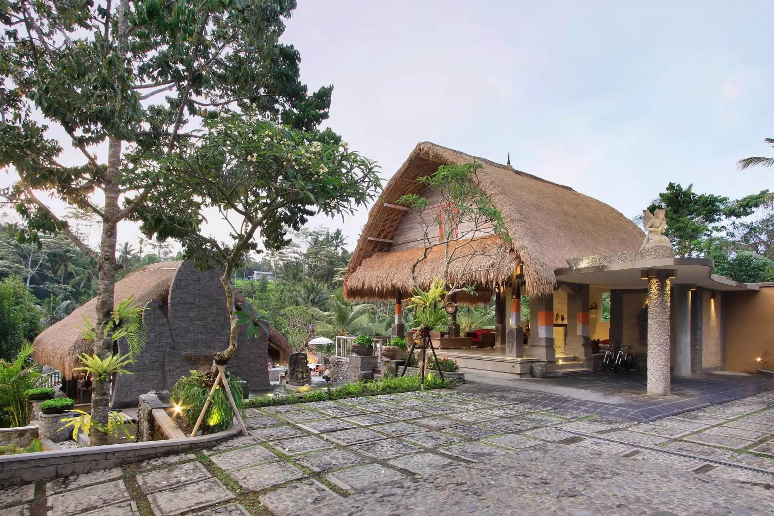
[[[135,305],[145,306],[149,301],[167,302],[170,288],[177,270],[183,261],[162,261],[132,272],[115,284],[114,299],[118,304],[129,296],[135,297]],[[48,365],[66,377],[71,376],[73,367],[79,367],[77,355],[94,352],[94,344],[84,340],[81,335],[84,317],[94,323],[97,320],[97,299],[79,306],[60,322],[43,330],[33,342],[33,358],[39,364]],[[277,330],[269,327],[269,350],[275,358],[287,361],[290,345]]]

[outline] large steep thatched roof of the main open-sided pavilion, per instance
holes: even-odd
[[[348,299],[394,299],[396,290],[406,292],[406,286],[410,292],[410,269],[416,255],[409,251],[415,250],[390,251],[392,237],[406,211],[385,206],[385,203],[394,204],[407,193],[420,193],[423,185],[416,179],[434,173],[441,165],[470,163],[474,159],[482,165],[478,171],[481,188],[502,213],[512,237],[512,248],[509,246],[503,252],[508,253],[509,261],[522,261],[526,289],[530,293],[547,295],[553,292],[556,286],[554,271],[566,267],[570,258],[639,248],[642,230],[605,203],[568,186],[519,172],[511,166],[423,142],[416,145],[371,208],[349,262],[344,296]],[[421,256],[422,251],[418,252]],[[438,263],[443,266],[443,260]],[[360,268],[365,269],[360,272]],[[409,284],[406,283],[407,270]],[[434,275],[442,275],[442,270],[438,269]],[[510,275],[511,272],[492,273],[477,278],[476,284],[492,289],[494,285],[507,283]],[[420,286],[426,288],[423,283],[429,283],[427,279],[432,279],[433,271],[427,267],[422,276]]]

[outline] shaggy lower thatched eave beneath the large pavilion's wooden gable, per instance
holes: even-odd
[[[457,248],[457,252],[454,248]],[[387,251],[366,258],[348,276],[348,297],[350,299],[380,299],[393,301],[395,292],[401,289],[404,296],[411,296],[414,280],[411,269],[424,255],[424,248],[409,248]],[[479,237],[473,241],[459,241],[450,246],[454,255],[449,264],[447,278],[450,282],[460,280],[464,285],[502,285],[511,279],[512,271],[519,263],[519,256],[498,237]],[[439,245],[416,267],[416,282],[427,289],[439,272],[446,266],[446,249]],[[491,289],[482,289],[477,296],[457,293],[457,302],[484,304],[491,299]]]

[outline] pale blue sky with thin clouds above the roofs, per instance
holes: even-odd
[[[634,217],[670,181],[774,190],[770,169],[736,166],[774,155],[772,19],[770,0],[298,0],[282,40],[310,91],[334,85],[327,125],[385,179],[419,142],[510,152]],[[352,249],[366,217],[310,226],[341,227]],[[119,241],[138,235],[119,227]]]

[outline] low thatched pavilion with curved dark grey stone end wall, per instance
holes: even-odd
[[[121,404],[136,402],[138,391],[171,388],[177,378],[204,367],[214,351],[228,344],[228,317],[218,277],[219,272],[197,271],[187,261],[164,261],[132,272],[115,284],[116,303],[134,296],[135,305],[146,307],[143,320],[148,329],[146,349],[128,367],[134,374],[122,375],[118,385]],[[94,350],[81,337],[84,317],[92,323],[97,320],[97,299],[40,333],[33,342],[33,358],[66,378],[79,377],[79,371],[73,371],[80,365],[77,355]],[[269,384],[269,358],[286,363],[291,352],[285,337],[273,327],[268,336],[257,339],[248,339],[242,330],[239,344],[229,369],[254,386]],[[119,343],[121,353],[126,352],[124,347],[125,343]]]

